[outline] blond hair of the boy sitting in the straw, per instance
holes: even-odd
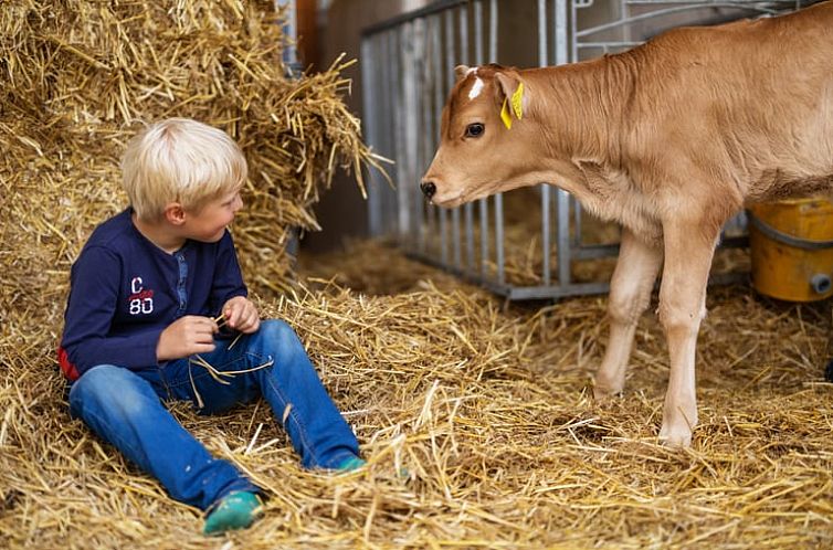
[[[160,219],[171,202],[199,212],[208,201],[240,187],[246,173],[243,152],[228,134],[189,118],[148,126],[122,158],[130,205],[148,221]]]

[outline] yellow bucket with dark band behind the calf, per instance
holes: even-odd
[[[833,203],[799,199],[749,209],[752,286],[766,296],[814,302],[833,295]]]

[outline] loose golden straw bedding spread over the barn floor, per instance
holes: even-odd
[[[362,246],[354,260],[383,258],[394,278],[415,272],[411,287],[370,295],[316,278],[260,305],[297,327],[371,461],[367,472],[300,470],[263,405],[219,419],[175,408],[272,495],[265,519],[229,537],[233,547],[830,544],[825,307],[714,289],[699,348],[702,425],[692,449],[668,451],[655,441],[667,369],[653,316],[640,327],[628,393],[600,404],[588,373],[602,351],[603,299],[507,306]],[[11,408],[3,541],[220,548],[196,533],[196,510],[66,417],[49,335],[30,342],[1,394]],[[394,475],[402,467],[405,478]]]

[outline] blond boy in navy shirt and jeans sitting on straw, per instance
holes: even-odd
[[[96,228],[72,267],[59,348],[71,414],[173,498],[207,510],[205,533],[249,527],[260,488],[160,400],[210,414],[263,395],[305,467],[360,467],[356,436],[293,329],[261,322],[246,298],[226,229],[243,205],[238,145],[171,118],[129,142],[122,170],[129,208]]]

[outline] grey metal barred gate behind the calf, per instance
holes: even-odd
[[[581,209],[565,191],[540,184],[535,205],[521,204],[521,218],[528,212],[538,225],[528,239],[536,260],[525,269],[507,267],[512,225],[506,222],[504,193],[451,211],[425,204],[419,180],[437,146],[454,66],[571,63],[626,50],[682,24],[772,15],[811,3],[814,0],[441,0],[366,29],[366,136],[378,154],[396,161],[397,183],[393,189],[380,173],[370,174],[371,234],[393,237],[409,255],[508,299],[608,292],[607,282],[577,281],[574,266],[612,258],[619,245],[589,242]],[[746,245],[745,230],[741,214],[725,228],[721,246]],[[519,242],[525,241],[521,235]],[[521,271],[528,272],[526,277],[515,276]]]

